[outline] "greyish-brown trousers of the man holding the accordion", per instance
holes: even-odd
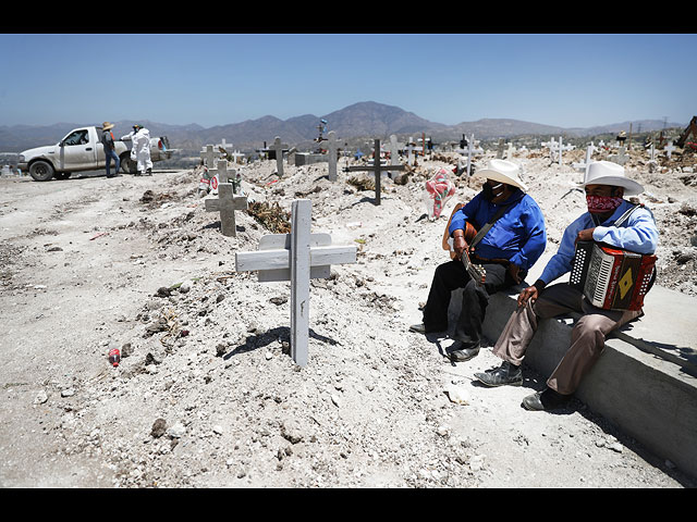
[[[519,365],[533,340],[540,320],[568,312],[583,313],[571,334],[571,346],[547,386],[563,395],[573,394],[590,371],[606,346],[606,336],[623,324],[638,318],[641,311],[602,310],[590,304],[583,294],[566,283],[542,290],[539,298],[519,307],[506,323],[493,347],[493,353],[504,361]]]

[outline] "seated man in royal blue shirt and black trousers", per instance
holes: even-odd
[[[464,288],[450,353],[456,362],[479,353],[489,296],[521,283],[547,245],[545,216],[535,200],[525,194],[527,187],[519,178],[518,166],[505,160],[491,160],[477,175],[487,182],[479,194],[453,213],[448,229],[454,241],[454,259],[436,268],[424,307],[424,322],[409,327],[421,334],[448,330],[451,293]],[[465,240],[468,225],[478,231],[499,212],[502,212],[499,219],[473,251]],[[472,237],[468,240],[472,241]],[[473,263],[486,270],[484,285],[465,270],[462,262],[465,250],[472,252]]]

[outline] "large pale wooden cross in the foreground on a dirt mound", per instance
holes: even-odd
[[[291,356],[307,365],[309,340],[309,281],[330,276],[331,264],[356,262],[355,246],[332,246],[329,234],[310,234],[311,201],[296,199],[291,233],[261,237],[256,252],[235,252],[237,272],[259,271],[259,282],[291,282]]]

